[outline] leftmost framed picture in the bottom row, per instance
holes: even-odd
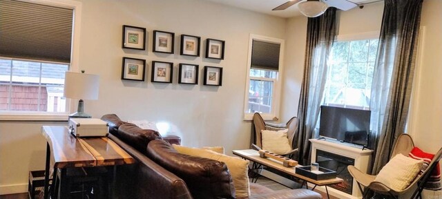
[[[123,57],[122,79],[144,81],[146,60]]]

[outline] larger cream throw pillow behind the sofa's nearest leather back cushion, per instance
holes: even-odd
[[[250,196],[249,189],[249,160],[242,160],[240,158],[231,157],[222,153],[217,153],[207,149],[191,148],[186,146],[178,146],[173,144],[173,148],[179,153],[192,155],[200,158],[209,158],[211,160],[218,160],[227,164],[230,174],[233,179],[233,186],[236,190],[236,197]]]

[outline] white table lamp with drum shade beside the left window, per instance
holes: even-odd
[[[64,97],[79,99],[77,113],[69,115],[71,117],[92,117],[84,113],[83,99],[98,99],[99,76],[84,73],[74,73],[66,71],[64,77]]]

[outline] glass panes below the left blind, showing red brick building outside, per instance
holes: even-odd
[[[0,111],[66,112],[68,64],[0,59]]]

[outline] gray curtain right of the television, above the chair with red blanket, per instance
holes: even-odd
[[[405,132],[416,61],[423,0],[385,0],[370,108],[378,139],[372,174],[390,160],[396,138]]]

